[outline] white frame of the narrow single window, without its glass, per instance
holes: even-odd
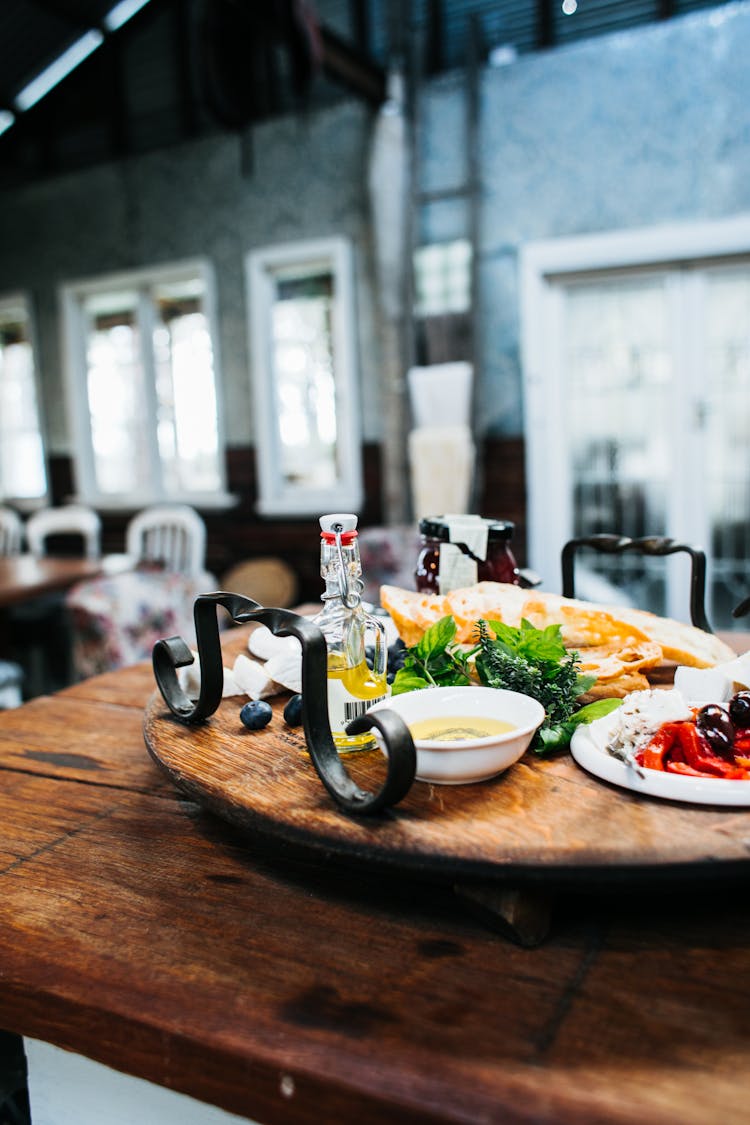
[[[331,488],[286,484],[280,471],[278,410],[273,386],[271,312],[274,274],[298,268],[300,277],[319,269],[334,277],[333,350],[336,387],[336,444],[340,482]],[[264,516],[319,515],[326,511],[358,512],[362,505],[362,428],[359,408],[359,362],[355,338],[354,264],[343,237],[264,246],[245,259],[247,324],[257,464],[257,511]]]

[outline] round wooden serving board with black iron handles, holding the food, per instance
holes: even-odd
[[[750,860],[750,810],[630,793],[591,777],[568,754],[527,752],[505,774],[473,785],[415,782],[386,813],[350,817],[323,788],[301,728],[284,723],[286,701],[273,702],[268,727],[250,731],[240,721],[244,700],[226,699],[205,724],[189,727],[155,693],[146,745],[180,790],[241,828],[407,872],[515,882],[693,878]],[[378,752],[345,760],[358,782],[374,788]]]

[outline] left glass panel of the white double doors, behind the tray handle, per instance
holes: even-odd
[[[571,282],[562,303],[571,536],[666,534],[678,457],[669,278]],[[642,556],[581,554],[577,592],[596,601],[624,593],[634,604],[667,612],[663,561]]]

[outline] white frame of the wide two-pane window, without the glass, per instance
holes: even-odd
[[[165,281],[179,281],[199,274],[205,285],[205,310],[211,336],[214,381],[216,389],[217,428],[219,443],[219,487],[214,492],[168,492],[155,482],[148,492],[134,490],[127,494],[102,493],[97,487],[89,402],[87,394],[85,325],[83,303],[87,297],[125,287],[141,288]],[[70,426],[73,436],[73,460],[75,466],[76,498],[98,508],[120,511],[143,507],[154,503],[184,503],[201,508],[222,508],[234,503],[226,490],[226,432],[222,398],[222,364],[219,356],[218,315],[216,304],[216,279],[211,263],[206,259],[170,262],[153,268],[102,273],[97,277],[67,281],[60,288],[62,309],[62,353],[69,406]],[[150,434],[152,464],[159,461],[155,430]]]

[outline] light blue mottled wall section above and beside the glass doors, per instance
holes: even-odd
[[[481,83],[480,227],[488,431],[523,429],[519,246],[750,210],[750,3],[522,56]],[[459,91],[435,89],[426,183],[461,178]],[[453,127],[439,128],[451,120]],[[426,217],[463,230],[459,204]]]

